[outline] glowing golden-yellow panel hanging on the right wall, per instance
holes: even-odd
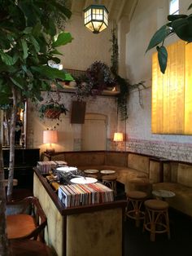
[[[160,72],[152,56],[151,130],[155,134],[192,134],[192,45],[178,41],[167,47],[168,64]]]

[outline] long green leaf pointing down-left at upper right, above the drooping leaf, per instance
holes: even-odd
[[[164,39],[167,38],[170,33],[172,33],[172,29],[168,28],[167,25],[168,24],[163,25],[159,30],[155,32],[146,51],[149,51],[153,47],[159,45],[160,42],[164,42]]]

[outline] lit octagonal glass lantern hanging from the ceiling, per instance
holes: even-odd
[[[108,26],[108,11],[102,5],[91,5],[84,10],[84,24],[93,33],[99,33]]]

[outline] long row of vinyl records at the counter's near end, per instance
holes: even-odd
[[[61,185],[58,195],[65,207],[114,201],[113,190],[102,183]]]

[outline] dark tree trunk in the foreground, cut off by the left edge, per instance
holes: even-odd
[[[7,226],[6,226],[6,192],[2,160],[2,144],[0,144],[0,255],[7,256],[9,254]]]

